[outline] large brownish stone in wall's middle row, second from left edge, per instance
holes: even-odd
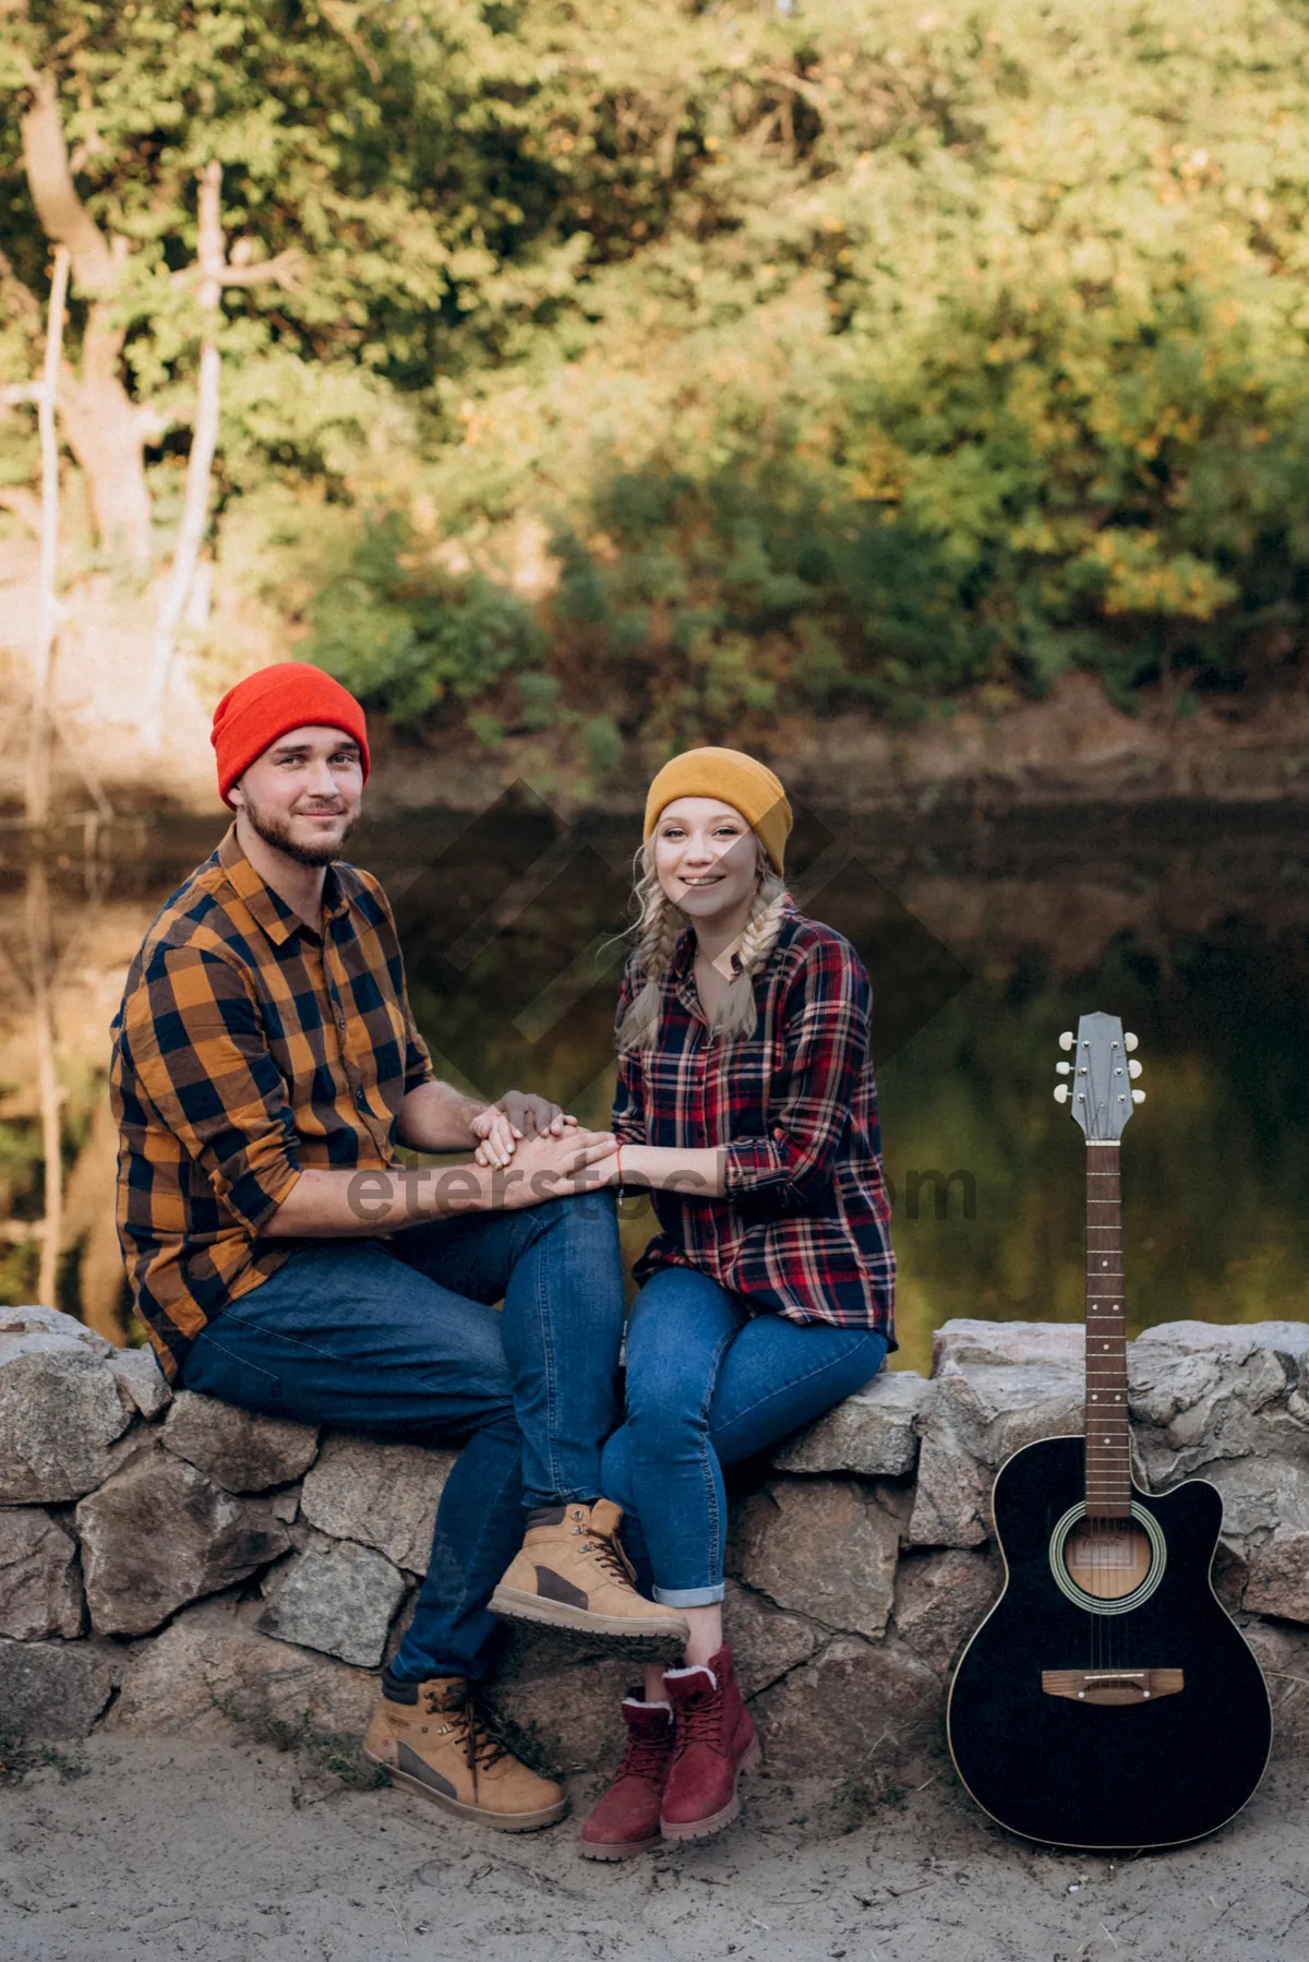
[[[98,1634],[147,1634],[175,1609],[245,1579],[290,1544],[261,1499],[236,1499],[153,1450],[77,1509],[86,1605]]]

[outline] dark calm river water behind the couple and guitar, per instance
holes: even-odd
[[[1091,1008],[1123,1016],[1144,1063],[1146,1103],[1123,1144],[1132,1328],[1309,1317],[1301,828],[1297,808],[1201,804],[801,816],[797,897],[856,942],[875,985],[899,1364],[924,1368],[952,1315],[1081,1318],[1083,1148],[1052,1089],[1058,1032]],[[96,1203],[110,1203],[102,1032],[116,975],[214,838],[151,826],[102,842],[94,865],[75,846],[49,865],[65,1160],[71,1191],[80,1175]],[[522,795],[481,818],[426,812],[359,832],[351,853],[387,881],[444,1075],[487,1097],[540,1089],[602,1122],[634,844],[630,818],[569,826]],[[14,946],[18,842],[0,871]],[[41,1211],[22,957],[0,985],[0,1185],[20,1222],[0,1289],[18,1299],[33,1273],[22,1218]],[[77,1309],[108,1283],[94,1234],[75,1226],[59,1285]],[[632,1254],[646,1232],[632,1207]]]

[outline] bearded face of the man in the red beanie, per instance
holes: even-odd
[[[232,802],[296,865],[330,865],[359,822],[363,763],[343,730],[316,722],[279,736],[232,785]]]

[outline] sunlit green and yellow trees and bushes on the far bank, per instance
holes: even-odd
[[[1070,665],[1125,702],[1295,683],[1293,0],[29,14],[130,251],[137,392],[188,400],[208,157],[245,261],[298,253],[290,290],[224,294],[220,549],[269,485],[353,510],[310,647],[396,718],[563,724],[604,775],[630,736]],[[14,133],[0,196],[39,294]],[[6,379],[35,345],[20,308]],[[27,422],[16,445],[0,481]]]

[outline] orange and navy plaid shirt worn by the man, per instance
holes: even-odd
[[[377,879],[332,865],[308,926],[234,826],[155,918],[114,1018],[118,1236],[169,1375],[294,1250],[259,1228],[300,1169],[394,1165],[400,1103],[432,1075]]]

